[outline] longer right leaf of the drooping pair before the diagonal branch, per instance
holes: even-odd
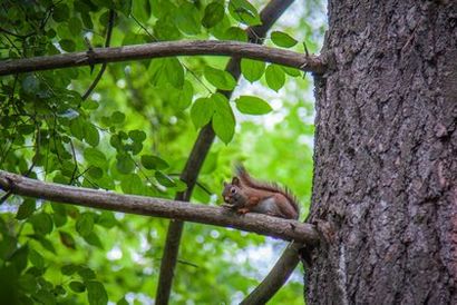
[[[215,107],[213,116],[214,132],[223,142],[229,144],[235,134],[235,116],[225,96],[214,94],[212,99]]]

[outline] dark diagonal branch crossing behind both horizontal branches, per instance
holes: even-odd
[[[249,41],[253,43],[262,43],[269,29],[292,2],[293,0],[271,0],[260,13],[262,24],[246,29]],[[241,75],[240,58],[232,57],[225,70],[235,79],[239,79]],[[227,99],[230,99],[233,94],[233,91],[220,92],[225,95]],[[187,184],[187,189],[185,193],[178,194],[176,199],[187,201],[191,198],[200,169],[210,151],[214,137],[215,135],[211,122],[200,131],[181,177],[181,179]],[[155,299],[157,305],[168,304],[183,228],[184,223],[181,220],[172,220],[169,223]]]

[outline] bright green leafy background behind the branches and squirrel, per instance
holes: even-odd
[[[4,0],[0,57],[87,50],[85,38],[103,47],[110,9],[116,16],[114,47],[181,39],[246,41],[243,30],[259,23],[264,4]],[[282,18],[294,22],[279,22],[265,43],[303,51],[299,41],[304,40],[311,52],[319,51],[322,3],[294,6]],[[254,177],[290,187],[301,199],[303,219],[312,177],[311,78],[243,60],[242,80],[235,82],[223,72],[226,62],[223,57],[193,57],[110,63],[86,100],[81,96],[100,67],[2,77],[0,168],[40,180],[173,198],[185,188],[178,175],[198,129],[212,119],[217,139],[192,201],[220,204],[223,180],[230,179],[233,163],[242,160]],[[214,95],[217,88],[235,88],[234,98]],[[166,219],[18,196],[0,208],[3,302],[153,302]],[[284,246],[253,234],[186,224],[173,304],[241,301]],[[298,270],[272,304],[302,304],[301,276]]]

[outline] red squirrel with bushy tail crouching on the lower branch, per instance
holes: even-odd
[[[236,167],[232,183],[224,183],[222,197],[226,203],[224,207],[240,214],[255,211],[288,219],[299,218],[298,200],[289,189],[253,179],[241,165]]]

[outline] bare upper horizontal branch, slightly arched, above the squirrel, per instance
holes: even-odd
[[[0,76],[49,69],[90,66],[96,63],[139,60],[174,56],[236,56],[322,73],[324,65],[317,56],[307,57],[289,50],[262,47],[237,41],[167,41],[117,48],[95,48],[87,52],[72,52],[0,61]]]

